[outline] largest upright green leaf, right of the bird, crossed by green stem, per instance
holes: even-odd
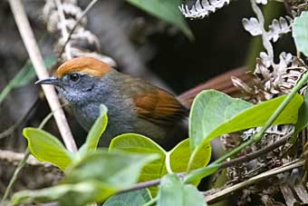
[[[252,106],[225,93],[207,90],[197,94],[189,116],[189,138],[192,150],[203,141],[210,142],[219,135],[262,126],[274,113],[286,95]],[[296,123],[303,97],[296,94],[275,124]]]

